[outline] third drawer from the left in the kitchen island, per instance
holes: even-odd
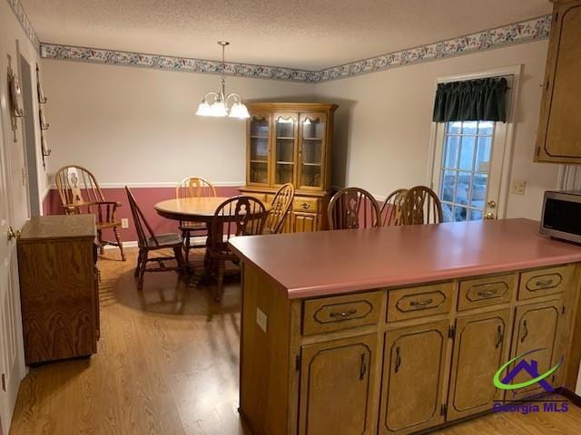
[[[458,310],[510,302],[516,283],[516,274],[485,276],[460,281]]]

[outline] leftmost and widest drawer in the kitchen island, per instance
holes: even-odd
[[[377,324],[382,292],[311,299],[303,304],[302,333],[327,333]]]

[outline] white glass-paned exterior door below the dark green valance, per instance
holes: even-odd
[[[509,87],[513,77],[507,76]],[[507,104],[507,107],[510,107]],[[494,121],[438,123],[432,189],[445,222],[498,217],[507,124]]]

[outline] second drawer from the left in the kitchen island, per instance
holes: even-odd
[[[449,282],[389,290],[388,322],[448,313],[452,305],[452,288]]]

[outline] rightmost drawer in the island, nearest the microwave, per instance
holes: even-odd
[[[564,292],[569,285],[573,270],[574,266],[557,266],[523,272],[520,274],[518,299],[531,299]]]

